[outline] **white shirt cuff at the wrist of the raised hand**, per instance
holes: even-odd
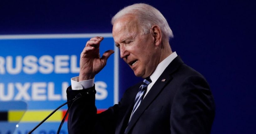
[[[71,78],[71,88],[72,90],[81,90],[93,87],[94,85],[94,78],[90,80],[80,81],[78,82],[79,77],[73,77]]]

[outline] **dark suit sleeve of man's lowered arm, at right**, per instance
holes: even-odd
[[[210,134],[215,105],[206,80],[190,76],[175,93],[171,107],[172,134]]]

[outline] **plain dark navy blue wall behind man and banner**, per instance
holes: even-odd
[[[111,17],[137,2],[163,13],[172,49],[208,80],[216,102],[212,134],[255,133],[255,1],[1,0],[0,34],[112,32]],[[120,94],[139,80],[120,60]]]

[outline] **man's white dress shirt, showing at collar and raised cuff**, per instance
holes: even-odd
[[[160,77],[160,75],[164,72],[165,68],[173,61],[174,58],[176,58],[178,55],[176,52],[173,52],[170,54],[168,57],[166,57],[162,62],[160,62],[155,71],[152,73],[150,76],[150,79],[152,82],[148,85],[147,87],[147,92],[145,93],[144,97],[148,94],[149,90],[151,87],[154,85],[156,80]],[[86,89],[93,87],[94,85],[94,78],[90,80],[85,80],[85,81],[80,81],[78,82],[78,76],[71,78],[71,87],[72,90],[81,90],[81,89]]]

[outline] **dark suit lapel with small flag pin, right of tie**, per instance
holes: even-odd
[[[154,101],[154,99],[162,91],[165,85],[172,80],[171,74],[175,72],[180,67],[181,64],[183,64],[183,61],[178,56],[166,67],[165,71],[160,75],[160,77],[154,83],[153,87],[151,87],[150,91],[143,99],[137,110],[134,112],[133,117],[126,130],[127,134],[134,126],[134,124],[138,121],[139,117],[143,114],[145,109]]]

